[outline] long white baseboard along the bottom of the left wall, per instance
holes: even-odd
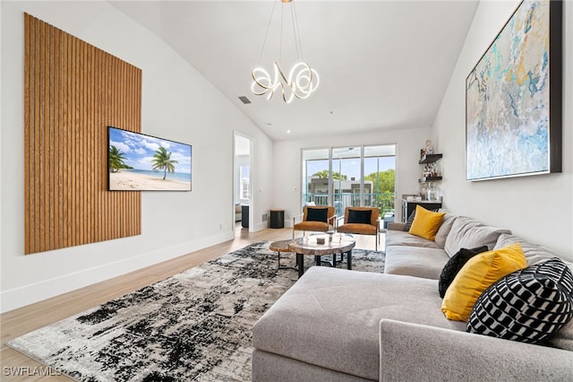
[[[2,301],[0,313],[25,307],[38,301],[47,300],[69,291],[75,291],[96,282],[103,282],[122,274],[130,273],[146,266],[155,265],[178,256],[183,256],[205,247],[214,246],[233,238],[233,232],[220,233],[208,238],[189,241],[173,247],[165,247],[121,261],[84,269],[80,272],[63,274],[46,281],[35,282],[11,290],[2,291],[0,293],[0,301]]]

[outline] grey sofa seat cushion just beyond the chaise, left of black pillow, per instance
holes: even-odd
[[[448,255],[440,248],[387,247],[384,273],[438,280],[448,260]]]

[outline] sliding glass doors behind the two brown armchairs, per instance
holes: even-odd
[[[303,150],[303,205],[380,207],[394,211],[396,145]]]

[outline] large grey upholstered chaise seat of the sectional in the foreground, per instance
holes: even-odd
[[[313,266],[256,323],[252,345],[378,380],[382,318],[465,330],[443,317],[436,288],[435,280]]]

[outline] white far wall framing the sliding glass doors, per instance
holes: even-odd
[[[360,135],[324,135],[304,140],[277,141],[274,143],[273,172],[275,185],[273,208],[285,210],[285,225],[293,226],[292,217],[301,213],[301,150],[321,147],[346,147],[363,144],[396,143],[396,221],[401,219],[400,198],[402,194],[419,192],[418,178],[422,166],[418,164],[420,149],[430,137],[427,127],[379,130]]]

